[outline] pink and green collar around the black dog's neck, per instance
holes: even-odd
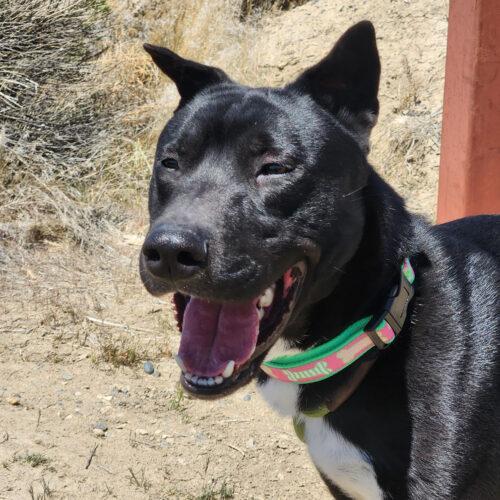
[[[311,384],[341,372],[374,347],[384,349],[404,326],[414,281],[413,268],[405,259],[400,282],[391,291],[382,314],[362,318],[332,340],[300,354],[265,361],[261,369],[282,382]]]

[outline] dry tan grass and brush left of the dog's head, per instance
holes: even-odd
[[[253,77],[241,0],[0,0],[0,267],[19,245],[101,234],[143,210],[175,87],[149,41]],[[125,210],[124,210],[125,208]],[[14,250],[15,251],[15,250]]]

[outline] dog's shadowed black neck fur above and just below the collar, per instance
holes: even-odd
[[[381,311],[400,275],[404,257],[410,256],[411,216],[402,199],[374,171],[363,190],[363,200],[365,224],[360,244],[330,295],[311,305],[290,325],[286,332],[290,347],[304,350],[324,343],[355,321]],[[349,369],[312,384],[314,388],[301,391],[300,406],[324,403],[324,398],[348,384],[353,374]]]

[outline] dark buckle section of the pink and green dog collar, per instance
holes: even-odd
[[[408,305],[414,295],[415,289],[412,283],[408,280],[406,274],[401,271],[399,285],[392,288],[382,313],[374,317],[365,327],[365,333],[378,349],[383,350],[390,343],[385,342],[378,335],[377,327],[385,320],[394,331],[395,336],[397,336],[403,329],[408,315]]]

